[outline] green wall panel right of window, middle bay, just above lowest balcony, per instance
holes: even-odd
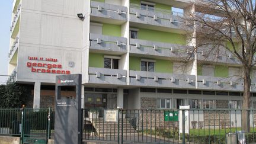
[[[155,72],[164,72],[172,73],[173,72],[173,63],[169,60],[156,60],[155,63]]]

